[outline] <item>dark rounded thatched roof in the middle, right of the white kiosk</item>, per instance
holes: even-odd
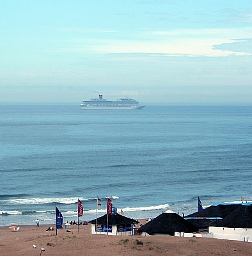
[[[198,228],[194,227],[189,221],[184,220],[177,213],[163,212],[154,220],[149,221],[143,227],[139,228],[139,232],[153,234],[169,234],[174,236],[175,232],[196,232]]]

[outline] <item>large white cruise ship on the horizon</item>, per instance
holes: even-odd
[[[112,101],[103,99],[102,94],[99,95],[98,99],[83,100],[81,104],[81,109],[91,110],[131,110],[142,108],[145,108],[145,106],[139,104],[139,102],[134,99],[124,97]]]

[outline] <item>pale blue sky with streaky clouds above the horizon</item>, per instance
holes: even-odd
[[[252,104],[251,0],[1,0],[0,104]]]

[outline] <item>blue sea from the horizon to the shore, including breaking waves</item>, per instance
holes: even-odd
[[[0,226],[96,216],[97,195],[130,218],[252,200],[252,107],[0,106]]]

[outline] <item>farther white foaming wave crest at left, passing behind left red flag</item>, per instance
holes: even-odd
[[[85,201],[90,198],[79,198]],[[93,198],[91,199],[93,200]],[[65,197],[65,198],[14,198],[8,200],[10,204],[77,204],[78,197]]]

